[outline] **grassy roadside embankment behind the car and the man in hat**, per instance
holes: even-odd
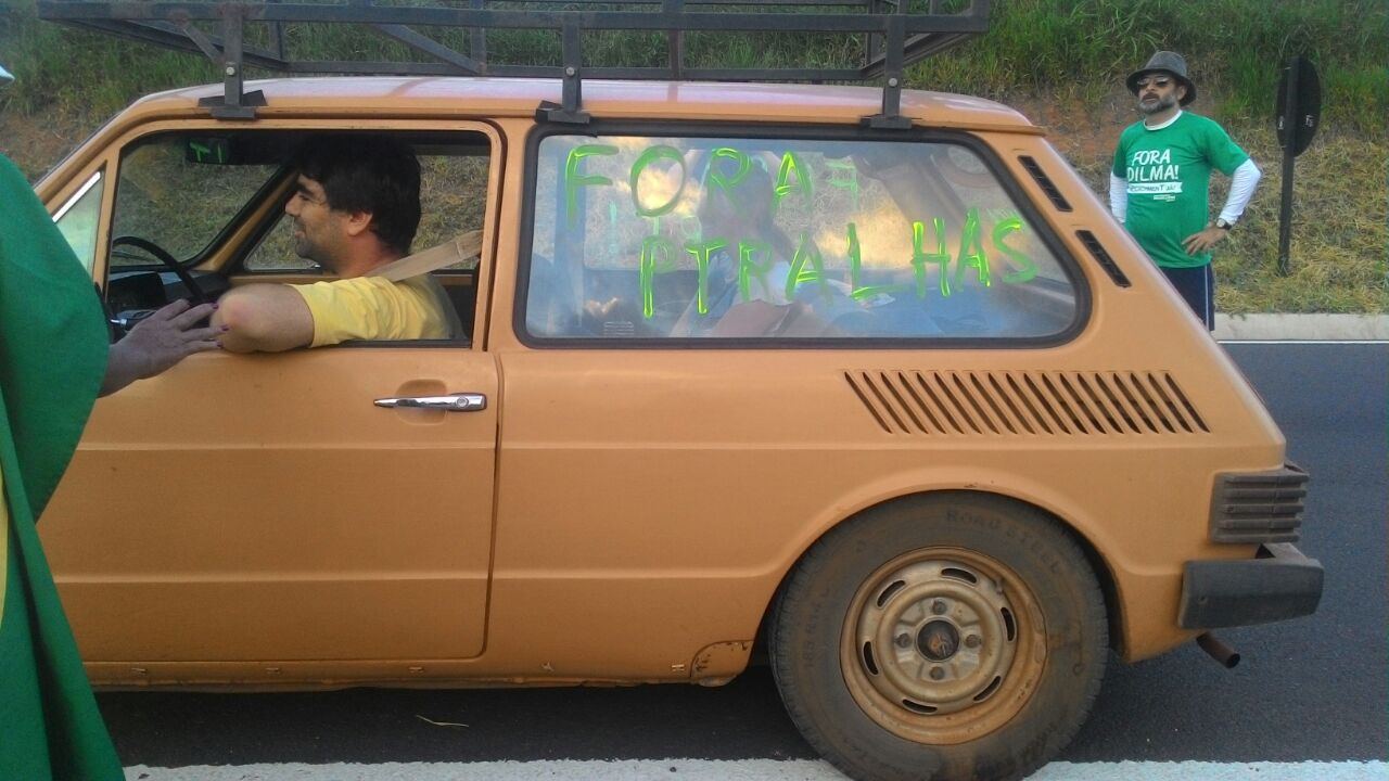
[[[461,33],[458,46],[464,46]],[[299,28],[308,58],[415,57],[361,31]],[[592,63],[658,64],[657,36],[586,39]],[[849,64],[860,42],[824,36],[690,35],[688,63]],[[1217,247],[1218,309],[1389,313],[1389,4],[1382,0],[1007,0],[988,35],[911,68],[908,86],[992,97],[1047,125],[1103,196],[1113,143],[1132,122],[1118,86],[1157,49],[1182,51],[1193,106],[1225,125],[1264,179],[1245,220]],[[497,63],[557,64],[558,39],[490,33]],[[1322,85],[1321,131],[1297,161],[1289,277],[1276,274],[1282,153],[1272,128],[1279,68],[1311,58]],[[0,63],[19,81],[0,92],[0,151],[38,175],[101,121],[147,92],[217,81],[203,58],[39,22],[32,0],[0,11]],[[38,131],[42,128],[42,131]],[[1214,204],[1225,195],[1217,176]],[[1215,206],[1213,206],[1214,208]]]

